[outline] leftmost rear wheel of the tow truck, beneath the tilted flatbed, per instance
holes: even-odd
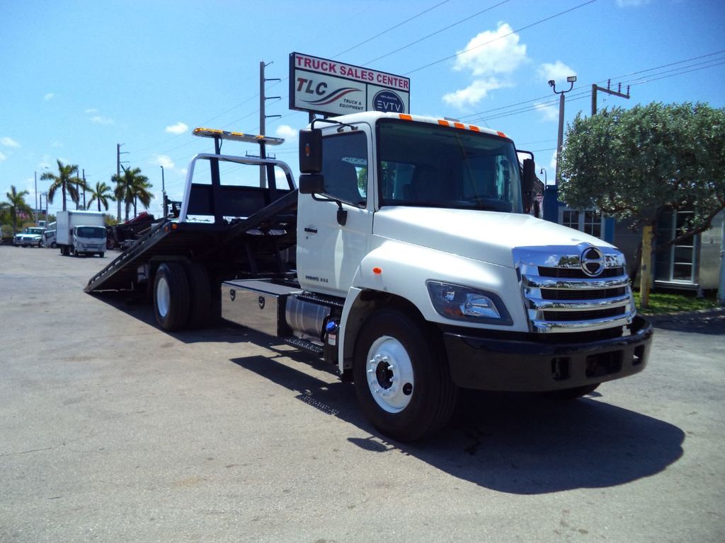
[[[183,329],[188,319],[188,278],[178,262],[161,264],[154,278],[154,313],[159,327],[173,332]]]

